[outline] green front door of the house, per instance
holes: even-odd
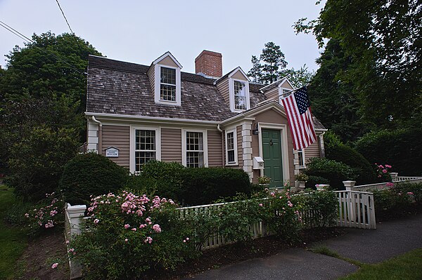
[[[264,175],[271,178],[269,187],[283,187],[280,131],[262,129],[262,156],[264,159]]]

